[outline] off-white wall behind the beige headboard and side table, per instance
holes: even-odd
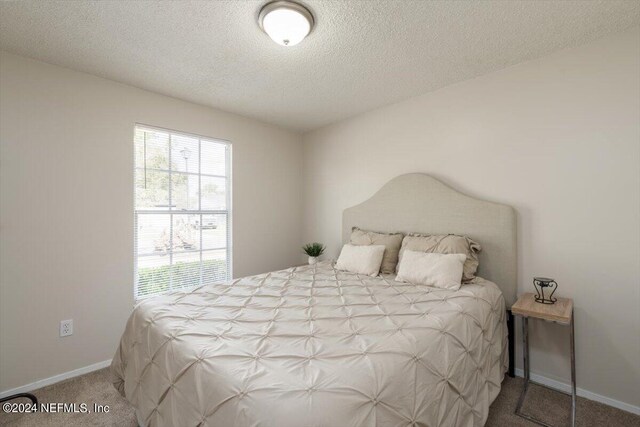
[[[407,172],[510,204],[519,291],[575,299],[578,386],[640,405],[638,28],[303,138],[306,241],[336,256],[342,210]],[[567,329],[532,323],[533,371],[568,382]]]

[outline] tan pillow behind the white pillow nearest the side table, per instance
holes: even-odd
[[[398,255],[398,262],[402,261],[405,251],[433,252],[438,254],[465,254],[462,282],[470,282],[476,277],[478,271],[478,252],[482,250],[480,245],[466,236],[456,234],[426,235],[407,234],[402,240],[402,247]]]

